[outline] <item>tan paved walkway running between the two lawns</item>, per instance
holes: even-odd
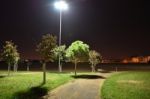
[[[103,77],[107,77],[100,75],[99,78],[75,79],[49,92],[44,99],[100,99],[100,86],[105,80]]]

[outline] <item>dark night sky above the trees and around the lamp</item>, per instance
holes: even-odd
[[[59,34],[56,0],[1,0],[0,48],[6,40],[18,45],[23,58],[38,58],[43,34]],[[67,0],[62,43],[82,40],[104,58],[150,55],[149,0]]]

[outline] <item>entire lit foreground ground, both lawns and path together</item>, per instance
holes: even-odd
[[[150,99],[150,72],[11,73],[0,71],[0,99]]]

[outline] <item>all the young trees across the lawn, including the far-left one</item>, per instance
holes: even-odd
[[[77,64],[79,62],[89,61],[92,72],[95,72],[95,66],[102,60],[101,55],[94,50],[89,50],[89,45],[84,42],[75,41],[66,48],[65,45],[58,46],[57,37],[50,34],[42,36],[36,51],[40,54],[42,60],[43,83],[46,83],[46,63],[56,61],[59,57],[61,60],[59,72],[62,72],[63,62],[73,62],[75,64],[75,75],[77,75]],[[20,55],[17,51],[17,46],[12,41],[6,41],[1,56],[8,64],[8,75],[12,64],[14,65],[14,71],[17,71]]]

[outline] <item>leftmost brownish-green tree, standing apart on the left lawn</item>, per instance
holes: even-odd
[[[17,46],[12,41],[6,41],[3,46],[2,58],[8,64],[8,75],[10,75],[10,68],[12,64],[17,64],[20,59],[17,51]],[[16,65],[14,65],[16,70]]]

